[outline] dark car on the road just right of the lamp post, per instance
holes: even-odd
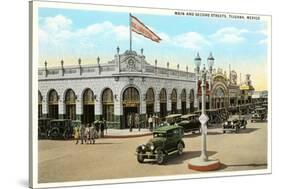
[[[235,131],[235,133],[238,133],[241,128],[246,129],[247,120],[244,118],[244,116],[240,115],[234,115],[228,120],[223,123],[223,133],[226,131]]]

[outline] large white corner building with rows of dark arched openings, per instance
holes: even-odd
[[[112,61],[84,66],[39,68],[38,112],[40,117],[79,119],[89,123],[107,120],[108,127],[127,128],[127,115],[164,117],[196,108],[195,73],[158,67],[135,51],[117,54]]]

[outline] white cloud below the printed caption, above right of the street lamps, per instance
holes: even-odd
[[[248,33],[246,29],[238,29],[235,27],[226,27],[218,30],[216,33],[210,35],[210,38],[220,43],[236,44],[245,41],[244,33]]]

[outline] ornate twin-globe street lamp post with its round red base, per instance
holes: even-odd
[[[210,54],[207,61],[211,70],[214,65],[214,58],[212,57],[212,54]],[[206,70],[205,65],[203,66],[203,69],[200,71],[201,58],[199,56],[199,53],[197,53],[194,62],[196,65],[197,80],[199,81],[199,79],[201,78],[201,95],[202,95],[201,110],[202,111],[201,111],[201,116],[199,117],[199,121],[201,123],[202,139],[201,139],[201,155],[198,158],[191,159],[188,162],[188,167],[190,169],[197,170],[197,171],[216,170],[220,168],[219,160],[209,159],[207,154],[207,122],[209,118],[206,115],[206,79],[207,79],[208,71]]]

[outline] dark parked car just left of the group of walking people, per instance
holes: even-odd
[[[70,139],[73,136],[73,125],[70,119],[55,119],[50,122],[50,139]]]

